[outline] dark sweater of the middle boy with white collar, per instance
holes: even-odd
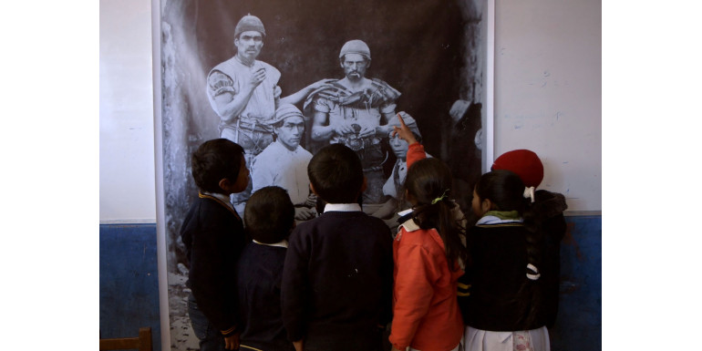
[[[391,320],[392,274],[392,236],[382,220],[364,212],[325,212],[301,223],[290,236],[283,269],[288,339],[377,333],[377,325]]]

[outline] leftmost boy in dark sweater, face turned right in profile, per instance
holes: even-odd
[[[198,199],[181,226],[190,272],[188,315],[201,351],[239,348],[236,263],[246,239],[229,196],[248,185],[243,149],[228,139],[205,141],[192,153]]]

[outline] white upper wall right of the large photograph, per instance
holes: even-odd
[[[602,211],[601,2],[495,7],[495,157],[536,152],[540,189],[563,193],[570,211]]]

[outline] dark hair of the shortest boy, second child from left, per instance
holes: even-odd
[[[259,243],[287,239],[294,224],[294,205],[281,187],[263,187],[246,201],[243,222],[249,236]]]

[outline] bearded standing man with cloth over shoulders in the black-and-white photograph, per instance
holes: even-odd
[[[380,79],[366,78],[370,48],[361,40],[351,40],[339,52],[339,64],[346,77],[331,87],[317,89],[305,101],[312,104],[314,120],[311,139],[343,143],[355,150],[364,168],[367,189],[364,203],[384,201],[382,164],[386,154],[380,141],[391,130],[387,121],[395,115],[400,93]]]

